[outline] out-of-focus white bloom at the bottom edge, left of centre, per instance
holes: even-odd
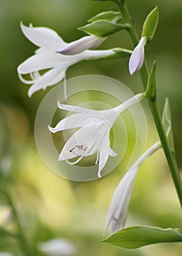
[[[75,246],[65,238],[53,238],[39,243],[38,249],[48,256],[66,256],[75,253]]]

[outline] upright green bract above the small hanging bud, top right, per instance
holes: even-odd
[[[153,39],[154,34],[156,33],[156,28],[159,21],[159,10],[158,7],[155,7],[147,16],[145,23],[143,24],[142,37],[147,37],[148,41]]]

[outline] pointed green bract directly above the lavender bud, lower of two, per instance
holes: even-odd
[[[94,34],[96,37],[107,37],[122,29],[129,29],[129,27],[129,24],[117,24],[109,20],[96,20],[78,29],[87,34]]]

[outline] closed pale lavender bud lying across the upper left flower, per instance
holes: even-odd
[[[95,37],[95,36],[87,36],[82,37],[74,42],[70,42],[68,45],[64,46],[58,50],[58,53],[72,55],[77,53],[82,53],[84,50],[88,50],[91,48],[96,48],[105,41],[105,38]]]

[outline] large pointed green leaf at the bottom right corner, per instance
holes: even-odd
[[[125,249],[137,249],[150,244],[182,241],[182,231],[172,228],[134,226],[119,230],[102,241]]]

